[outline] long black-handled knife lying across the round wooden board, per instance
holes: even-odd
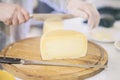
[[[44,65],[44,66],[63,66],[63,67],[81,67],[81,68],[107,68],[100,64],[67,64],[60,62],[34,61],[20,58],[0,57],[0,63],[3,64],[23,64],[23,65]]]

